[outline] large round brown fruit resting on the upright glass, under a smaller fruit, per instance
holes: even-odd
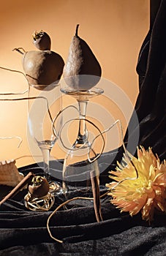
[[[51,50],[30,50],[23,56],[23,70],[31,86],[39,90],[52,83],[59,83],[64,61]]]

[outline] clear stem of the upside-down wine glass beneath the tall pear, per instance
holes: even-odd
[[[88,141],[88,130],[86,128],[86,121],[85,121],[87,103],[88,103],[88,100],[78,99],[80,121],[79,121],[79,128],[78,128],[77,144],[83,144],[83,143],[86,143],[86,141]]]

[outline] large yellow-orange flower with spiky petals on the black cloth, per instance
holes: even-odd
[[[129,154],[129,153],[128,153]],[[139,211],[145,220],[151,221],[154,209],[166,212],[166,161],[160,162],[151,148],[137,148],[137,158],[124,155],[123,163],[117,163],[116,171],[110,171],[114,181],[106,186],[113,205],[131,216]]]

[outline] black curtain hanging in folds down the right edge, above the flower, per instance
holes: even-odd
[[[150,146],[161,160],[166,158],[165,28],[166,1],[151,1],[151,26],[137,61],[140,92],[135,111],[140,129],[138,145],[146,149]],[[129,127],[132,130],[130,136],[134,138],[137,127],[133,117]],[[125,141],[128,139],[126,135]]]

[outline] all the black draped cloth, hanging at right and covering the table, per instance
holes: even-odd
[[[165,90],[166,90],[166,1],[160,1],[154,23],[140,49],[137,61],[137,73],[140,81],[140,93],[135,110],[139,120],[139,145],[152,147],[160,159],[166,158],[165,136]],[[137,125],[134,118],[129,122],[129,136],[135,136]],[[125,136],[125,142],[128,140]],[[122,148],[103,154],[99,159],[101,194],[106,191],[105,182],[109,182],[107,170],[114,168],[113,162],[121,160]],[[111,159],[115,157],[112,162]],[[20,168],[26,175],[34,173],[36,165]],[[52,163],[51,170],[56,166]],[[0,187],[1,197],[10,187]],[[149,225],[140,214],[130,217],[121,214],[102,199],[103,221],[97,223],[93,202],[79,200],[66,208],[61,208],[50,220],[50,230],[56,238],[64,242],[53,241],[48,234],[46,222],[56,206],[64,201],[63,195],[48,212],[29,211],[24,206],[26,190],[0,207],[0,255],[166,255],[166,218],[165,214],[156,215]],[[91,191],[86,192],[91,195]],[[71,197],[82,195],[74,190]],[[77,203],[77,207],[75,204]]]

